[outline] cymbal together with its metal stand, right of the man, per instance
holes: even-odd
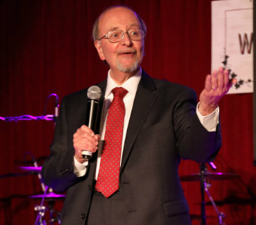
[[[211,162],[209,166],[212,167],[212,169],[216,169],[216,166]],[[194,173],[190,175],[181,175],[180,180],[181,181],[200,181],[200,193],[201,193],[201,224],[206,224],[206,211],[205,211],[205,200],[204,200],[204,192],[206,192],[207,196],[209,197],[209,200],[213,206],[213,208],[216,211],[216,214],[218,215],[218,224],[224,224],[224,217],[225,214],[223,212],[218,211],[218,208],[212,199],[212,196],[209,193],[209,187],[211,184],[209,184],[209,180],[215,181],[215,180],[226,180],[231,178],[239,178],[238,174],[234,173],[225,173],[225,172],[209,172],[207,171],[206,164],[200,163],[200,173]]]

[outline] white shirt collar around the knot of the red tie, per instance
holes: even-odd
[[[116,87],[122,87],[126,89],[128,93],[135,95],[135,93],[137,92],[137,86],[140,83],[141,74],[142,74],[142,70],[140,68],[140,70],[137,71],[137,73],[134,74],[134,76],[126,80],[125,83],[123,83],[121,86],[118,86],[110,76],[110,70],[109,70],[107,73],[107,88],[105,92],[105,98],[107,98],[111,94],[111,91]]]

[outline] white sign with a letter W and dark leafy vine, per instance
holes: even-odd
[[[251,0],[212,1],[212,71],[236,77],[228,94],[253,92],[253,6]]]

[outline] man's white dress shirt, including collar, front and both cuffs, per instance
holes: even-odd
[[[96,166],[96,172],[95,172],[95,180],[97,180],[97,178],[98,178],[98,171],[99,171],[100,164],[101,164],[101,151],[102,151],[102,147],[103,147],[103,143],[104,143],[104,135],[105,135],[106,122],[107,122],[107,110],[110,107],[110,103],[113,101],[113,93],[111,91],[116,87],[122,87],[128,91],[127,95],[125,95],[125,98],[124,98],[125,120],[124,120],[124,128],[123,128],[123,133],[122,133],[122,149],[121,149],[121,160],[120,160],[120,165],[121,165],[122,151],[124,148],[126,131],[127,131],[128,122],[129,122],[129,119],[131,116],[131,110],[134,105],[134,98],[135,98],[135,95],[137,92],[137,86],[140,83],[141,73],[142,73],[142,71],[140,68],[140,70],[137,72],[137,74],[135,74],[133,77],[126,80],[125,83],[122,84],[122,86],[118,86],[115,83],[115,81],[112,79],[112,77],[110,76],[110,71],[108,71],[107,88],[106,88],[106,92],[105,92],[105,96],[104,96],[104,104],[103,104],[102,113],[101,113],[101,127],[100,127],[101,139],[98,144],[98,159],[97,159],[97,166]],[[208,130],[208,131],[215,131],[216,126],[218,124],[218,113],[219,113],[218,107],[210,115],[203,116],[198,111],[198,104],[197,104],[196,113],[197,113],[197,116],[198,116],[201,124],[203,124],[203,127],[205,127],[206,130]],[[84,163],[80,163],[74,157],[74,173],[77,176],[85,175],[87,166],[88,166],[88,160],[86,160]]]

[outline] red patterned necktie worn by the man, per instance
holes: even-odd
[[[95,186],[96,190],[106,197],[111,196],[119,189],[122,130],[125,118],[123,98],[128,91],[123,88],[115,88],[112,93],[114,98],[107,114],[104,147]]]

